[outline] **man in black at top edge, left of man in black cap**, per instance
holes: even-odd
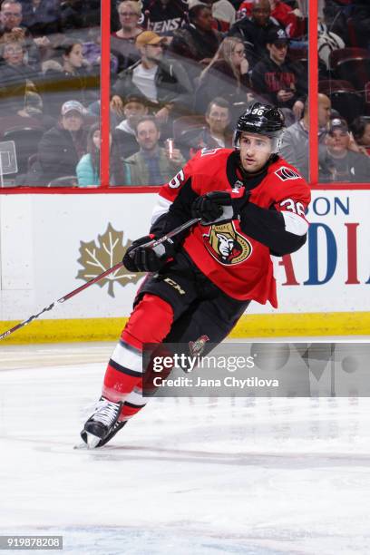
[[[252,16],[247,16],[233,24],[229,36],[238,36],[244,42],[248,61],[253,67],[266,54],[268,33],[275,27],[281,27],[271,16],[268,0],[256,0],[252,7]]]

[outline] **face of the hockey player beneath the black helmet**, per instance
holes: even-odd
[[[264,135],[243,131],[240,136],[240,161],[244,170],[256,173],[271,156],[271,140]]]

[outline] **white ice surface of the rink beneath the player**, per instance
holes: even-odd
[[[152,399],[76,450],[105,351],[55,348],[33,367],[3,352],[0,534],[89,555],[370,553],[369,399]]]

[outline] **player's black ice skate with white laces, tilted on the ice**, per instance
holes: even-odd
[[[122,403],[112,403],[101,397],[96,404],[94,413],[86,421],[81,432],[83,442],[87,443],[89,449],[102,447],[108,443],[126,424],[127,421],[118,422]]]

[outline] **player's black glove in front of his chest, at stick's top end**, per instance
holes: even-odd
[[[231,197],[224,190],[212,190],[191,205],[193,218],[200,218],[200,223],[209,224],[223,219],[232,219],[234,210],[231,205]]]

